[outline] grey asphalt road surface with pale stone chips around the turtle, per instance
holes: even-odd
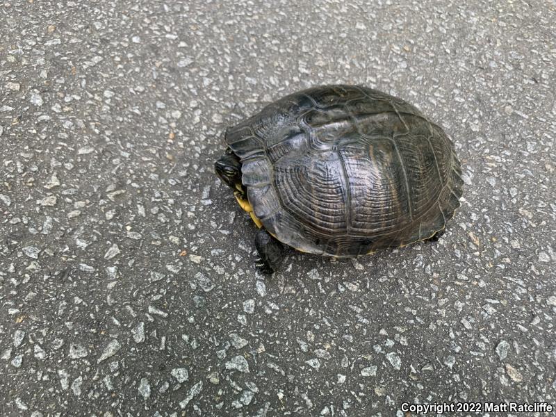
[[[0,4],[0,415],[556,405],[556,6],[471,3]],[[325,83],[444,126],[461,208],[439,243],[265,277],[213,161]]]

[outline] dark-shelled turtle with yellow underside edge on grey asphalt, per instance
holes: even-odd
[[[321,85],[224,132],[215,173],[259,230],[259,270],[286,247],[347,258],[438,240],[462,195],[444,130],[400,98]]]

